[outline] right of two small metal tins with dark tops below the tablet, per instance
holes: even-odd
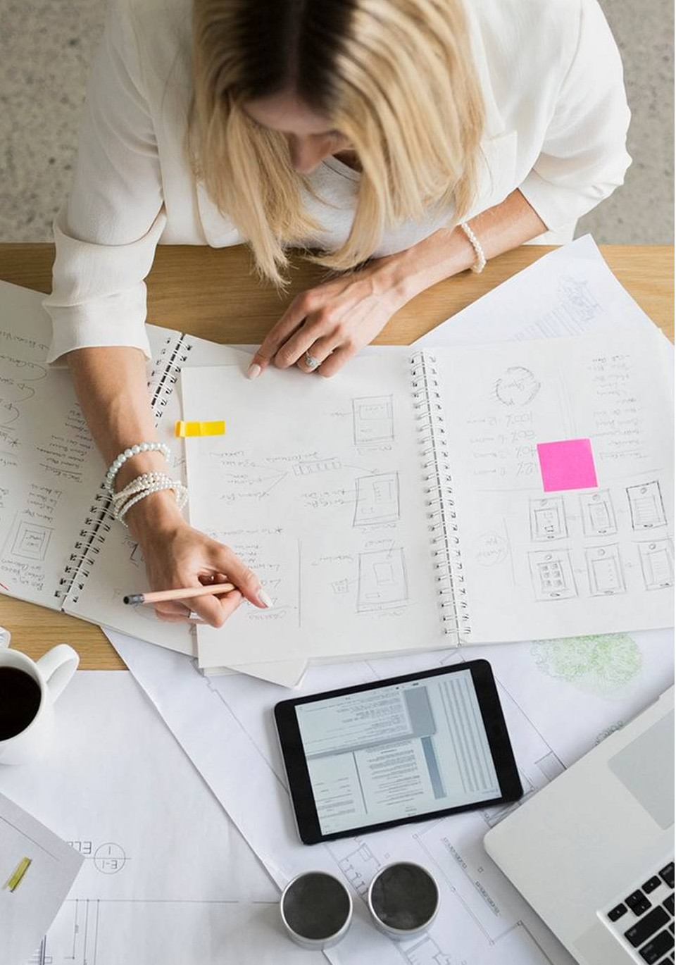
[[[378,871],[368,887],[374,924],[391,938],[424,931],[439,911],[439,886],[430,872],[413,862],[393,862]]]

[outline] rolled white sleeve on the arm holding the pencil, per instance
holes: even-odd
[[[150,355],[146,285],[164,229],[162,183],[131,12],[110,5],[90,76],[68,204],[54,224],[44,307],[47,359],[73,348],[131,345]]]

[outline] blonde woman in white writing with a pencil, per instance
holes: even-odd
[[[152,588],[227,576],[240,592],[194,600],[214,625],[269,603],[183,521],[171,480],[144,477],[167,471],[145,369],[158,243],[246,240],[276,285],[287,247],[311,250],[338,275],[291,303],[249,374],[333,375],[420,290],[570,238],[622,182],[628,123],[596,0],[115,0],[55,226],[49,359],[113,487],[145,494],[126,521]]]

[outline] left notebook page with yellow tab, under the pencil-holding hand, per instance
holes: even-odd
[[[246,363],[184,369],[190,520],[257,572],[273,606],[198,628],[201,666],[444,642],[405,350],[335,379]],[[237,628],[241,627],[241,632]]]

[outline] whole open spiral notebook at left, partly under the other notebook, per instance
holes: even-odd
[[[68,370],[44,363],[51,323],[43,295],[0,282],[0,597],[3,593],[102,623],[150,643],[194,655],[194,630],[156,620],[152,610],[124,606],[122,596],[147,587],[136,542],[109,514],[105,472]],[[242,353],[225,345],[149,325],[154,362],[149,391],[158,437],[183,477],[174,426],[181,366],[227,362]],[[1,606],[1,603],[0,603]],[[247,671],[247,661],[242,670]],[[298,665],[301,675],[304,662]],[[267,661],[257,676],[287,681],[293,667]]]

